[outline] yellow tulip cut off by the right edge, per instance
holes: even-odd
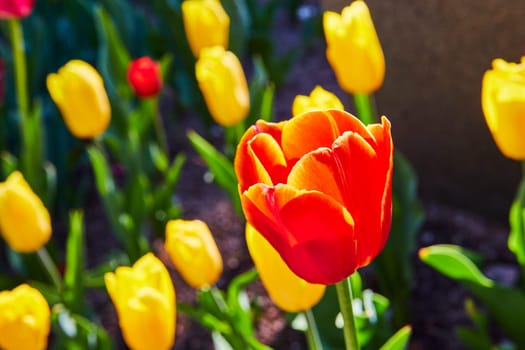
[[[521,63],[492,62],[483,76],[481,106],[501,153],[525,160],[525,56]]]

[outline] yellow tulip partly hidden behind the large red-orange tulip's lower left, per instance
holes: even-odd
[[[308,283],[294,274],[279,253],[251,225],[246,225],[246,243],[259,277],[275,305],[299,312],[315,306],[326,286]]]

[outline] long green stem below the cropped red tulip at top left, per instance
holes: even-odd
[[[22,171],[31,187],[35,189],[38,195],[42,195],[40,188],[36,186],[39,164],[35,152],[38,152],[38,138],[35,140],[34,136],[36,135],[33,133],[38,132],[38,128],[30,125],[24,32],[22,23],[18,19],[10,19],[8,22],[13,50],[16,100],[20,115]]]

